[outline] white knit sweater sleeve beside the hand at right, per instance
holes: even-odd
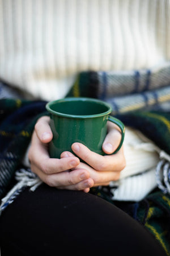
[[[126,127],[124,153],[126,167],[121,171],[120,179],[112,181],[113,200],[139,201],[157,187],[156,166],[161,150],[142,133]]]

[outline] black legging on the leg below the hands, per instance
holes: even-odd
[[[1,256],[166,255],[137,221],[100,197],[43,184],[0,217]]]

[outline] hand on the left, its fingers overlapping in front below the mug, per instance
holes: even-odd
[[[90,173],[86,169],[70,171],[78,166],[79,158],[76,156],[61,159],[50,158],[48,143],[52,141],[52,138],[49,117],[41,117],[35,125],[28,152],[32,172],[51,187],[88,192],[94,185]]]

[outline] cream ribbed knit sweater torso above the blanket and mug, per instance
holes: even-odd
[[[79,71],[170,59],[169,0],[0,0],[0,78],[65,96]]]

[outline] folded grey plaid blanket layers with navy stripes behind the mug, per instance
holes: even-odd
[[[112,105],[113,114],[169,110],[170,61],[138,71],[82,72],[68,96],[100,98]]]

